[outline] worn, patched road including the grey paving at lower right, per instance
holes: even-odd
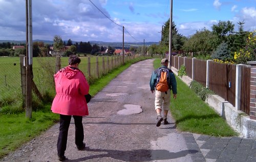
[[[83,118],[87,147],[75,149],[72,122],[66,161],[256,161],[255,140],[179,132],[170,114],[170,124],[156,127],[153,70],[153,59],[133,64],[91,100]],[[0,161],[58,161],[58,126]]]

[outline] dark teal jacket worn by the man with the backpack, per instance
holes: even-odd
[[[161,68],[167,68],[166,66],[162,65]],[[150,90],[155,90],[155,84],[157,81],[157,77],[158,77],[158,69],[157,68],[150,79]],[[176,78],[174,73],[172,72],[172,70],[170,70],[169,68],[167,68],[169,70],[169,89],[173,90],[173,94],[177,94],[177,82],[176,82]]]

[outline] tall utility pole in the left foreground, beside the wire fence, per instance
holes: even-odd
[[[32,0],[26,0],[26,117],[32,118]]]

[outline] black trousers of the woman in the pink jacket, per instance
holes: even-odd
[[[59,136],[57,142],[58,155],[62,156],[65,154],[67,148],[68,131],[71,121],[71,115],[60,114],[59,120]],[[83,126],[82,126],[82,116],[73,115],[75,121],[75,144],[76,146],[83,145]]]

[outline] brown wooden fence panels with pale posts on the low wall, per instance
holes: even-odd
[[[185,66],[186,74],[210,90],[214,91],[233,106],[240,104],[239,110],[250,113],[250,67],[243,65],[241,72],[237,72],[236,64],[224,64],[209,60],[199,60],[196,58],[172,56],[172,66],[177,68]],[[183,61],[184,60],[184,61]],[[208,71],[208,72],[207,72]],[[240,83],[236,83],[237,77],[241,76]],[[208,78],[207,78],[208,77]],[[207,83],[208,82],[208,83]],[[240,84],[241,86],[237,86]],[[240,98],[236,98],[236,89],[241,87]]]

